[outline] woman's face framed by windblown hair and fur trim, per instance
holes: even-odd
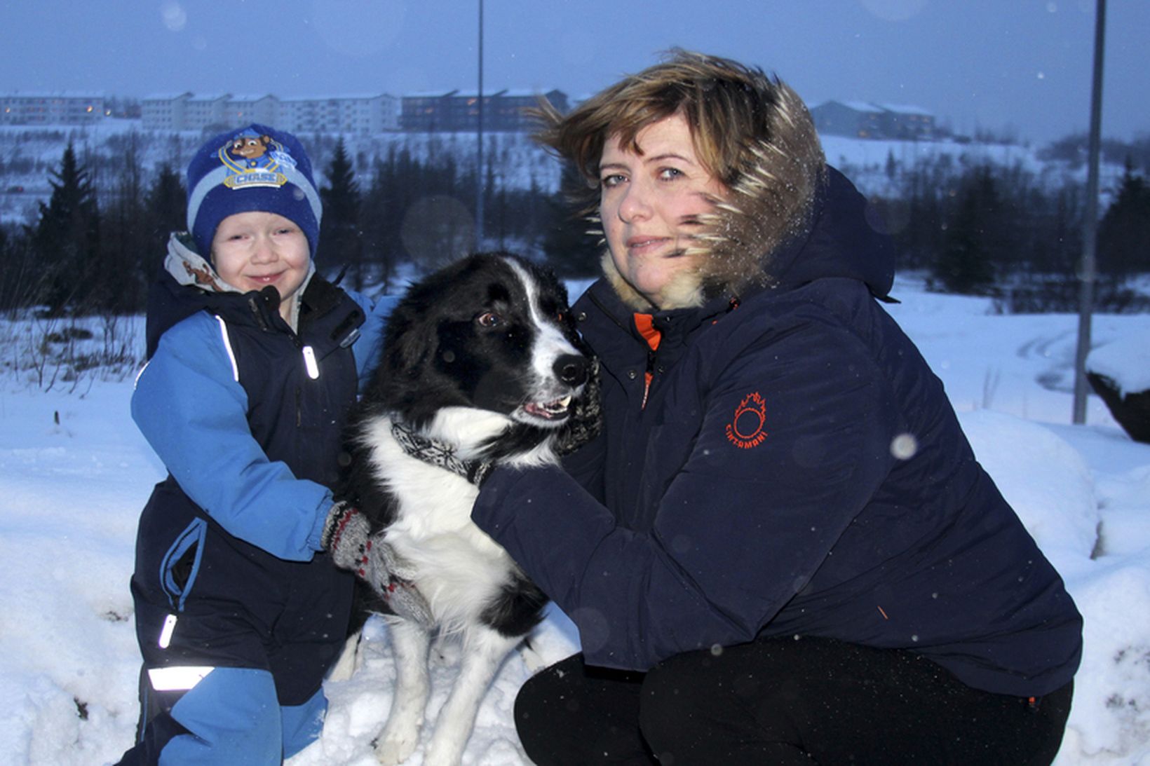
[[[642,153],[607,140],[599,161],[599,215],[619,274],[659,308],[698,255],[683,253],[726,187],[703,167],[687,121],[672,115],[636,136]]]

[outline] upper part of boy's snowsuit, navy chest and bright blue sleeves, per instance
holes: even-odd
[[[195,258],[176,239],[169,252]],[[293,332],[277,299],[274,290],[213,292],[162,274],[132,416],[213,521],[281,559],[307,561],[331,507],[344,416],[391,302],[371,311],[316,275]]]

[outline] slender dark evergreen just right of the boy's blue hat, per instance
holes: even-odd
[[[360,190],[355,170],[343,137],[328,164],[328,185],[320,187],[323,224],[320,227],[320,253],[324,267],[348,269],[351,285],[363,289],[363,232],[359,225]]]

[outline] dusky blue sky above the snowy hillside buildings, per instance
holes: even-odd
[[[592,93],[681,46],[808,104],[920,106],[1046,141],[1089,120],[1095,0],[484,0],[484,90]],[[0,0],[0,91],[476,86],[478,0]],[[1150,0],[1107,3],[1103,131],[1150,133]]]

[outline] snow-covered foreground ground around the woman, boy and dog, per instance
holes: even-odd
[[[1068,424],[1075,316],[995,315],[987,300],[911,283],[895,294],[904,302],[891,313],[1086,616],[1057,764],[1150,765],[1150,445],[1132,442],[1096,397],[1088,424]],[[1150,347],[1150,316],[1094,320],[1096,346],[1136,335]],[[22,348],[0,327],[0,368]],[[130,376],[86,374],[44,392],[30,374],[0,375],[0,765],[110,763],[130,745],[137,715],[128,592],[136,518],[163,469],[129,418]],[[290,766],[375,763],[370,741],[394,675],[385,634],[373,625],[365,667],[328,684],[323,737]],[[577,636],[552,612],[535,643],[553,661],[577,649]],[[529,673],[519,654],[504,665],[465,764],[526,763],[511,706]],[[452,674],[436,667],[432,712]]]

